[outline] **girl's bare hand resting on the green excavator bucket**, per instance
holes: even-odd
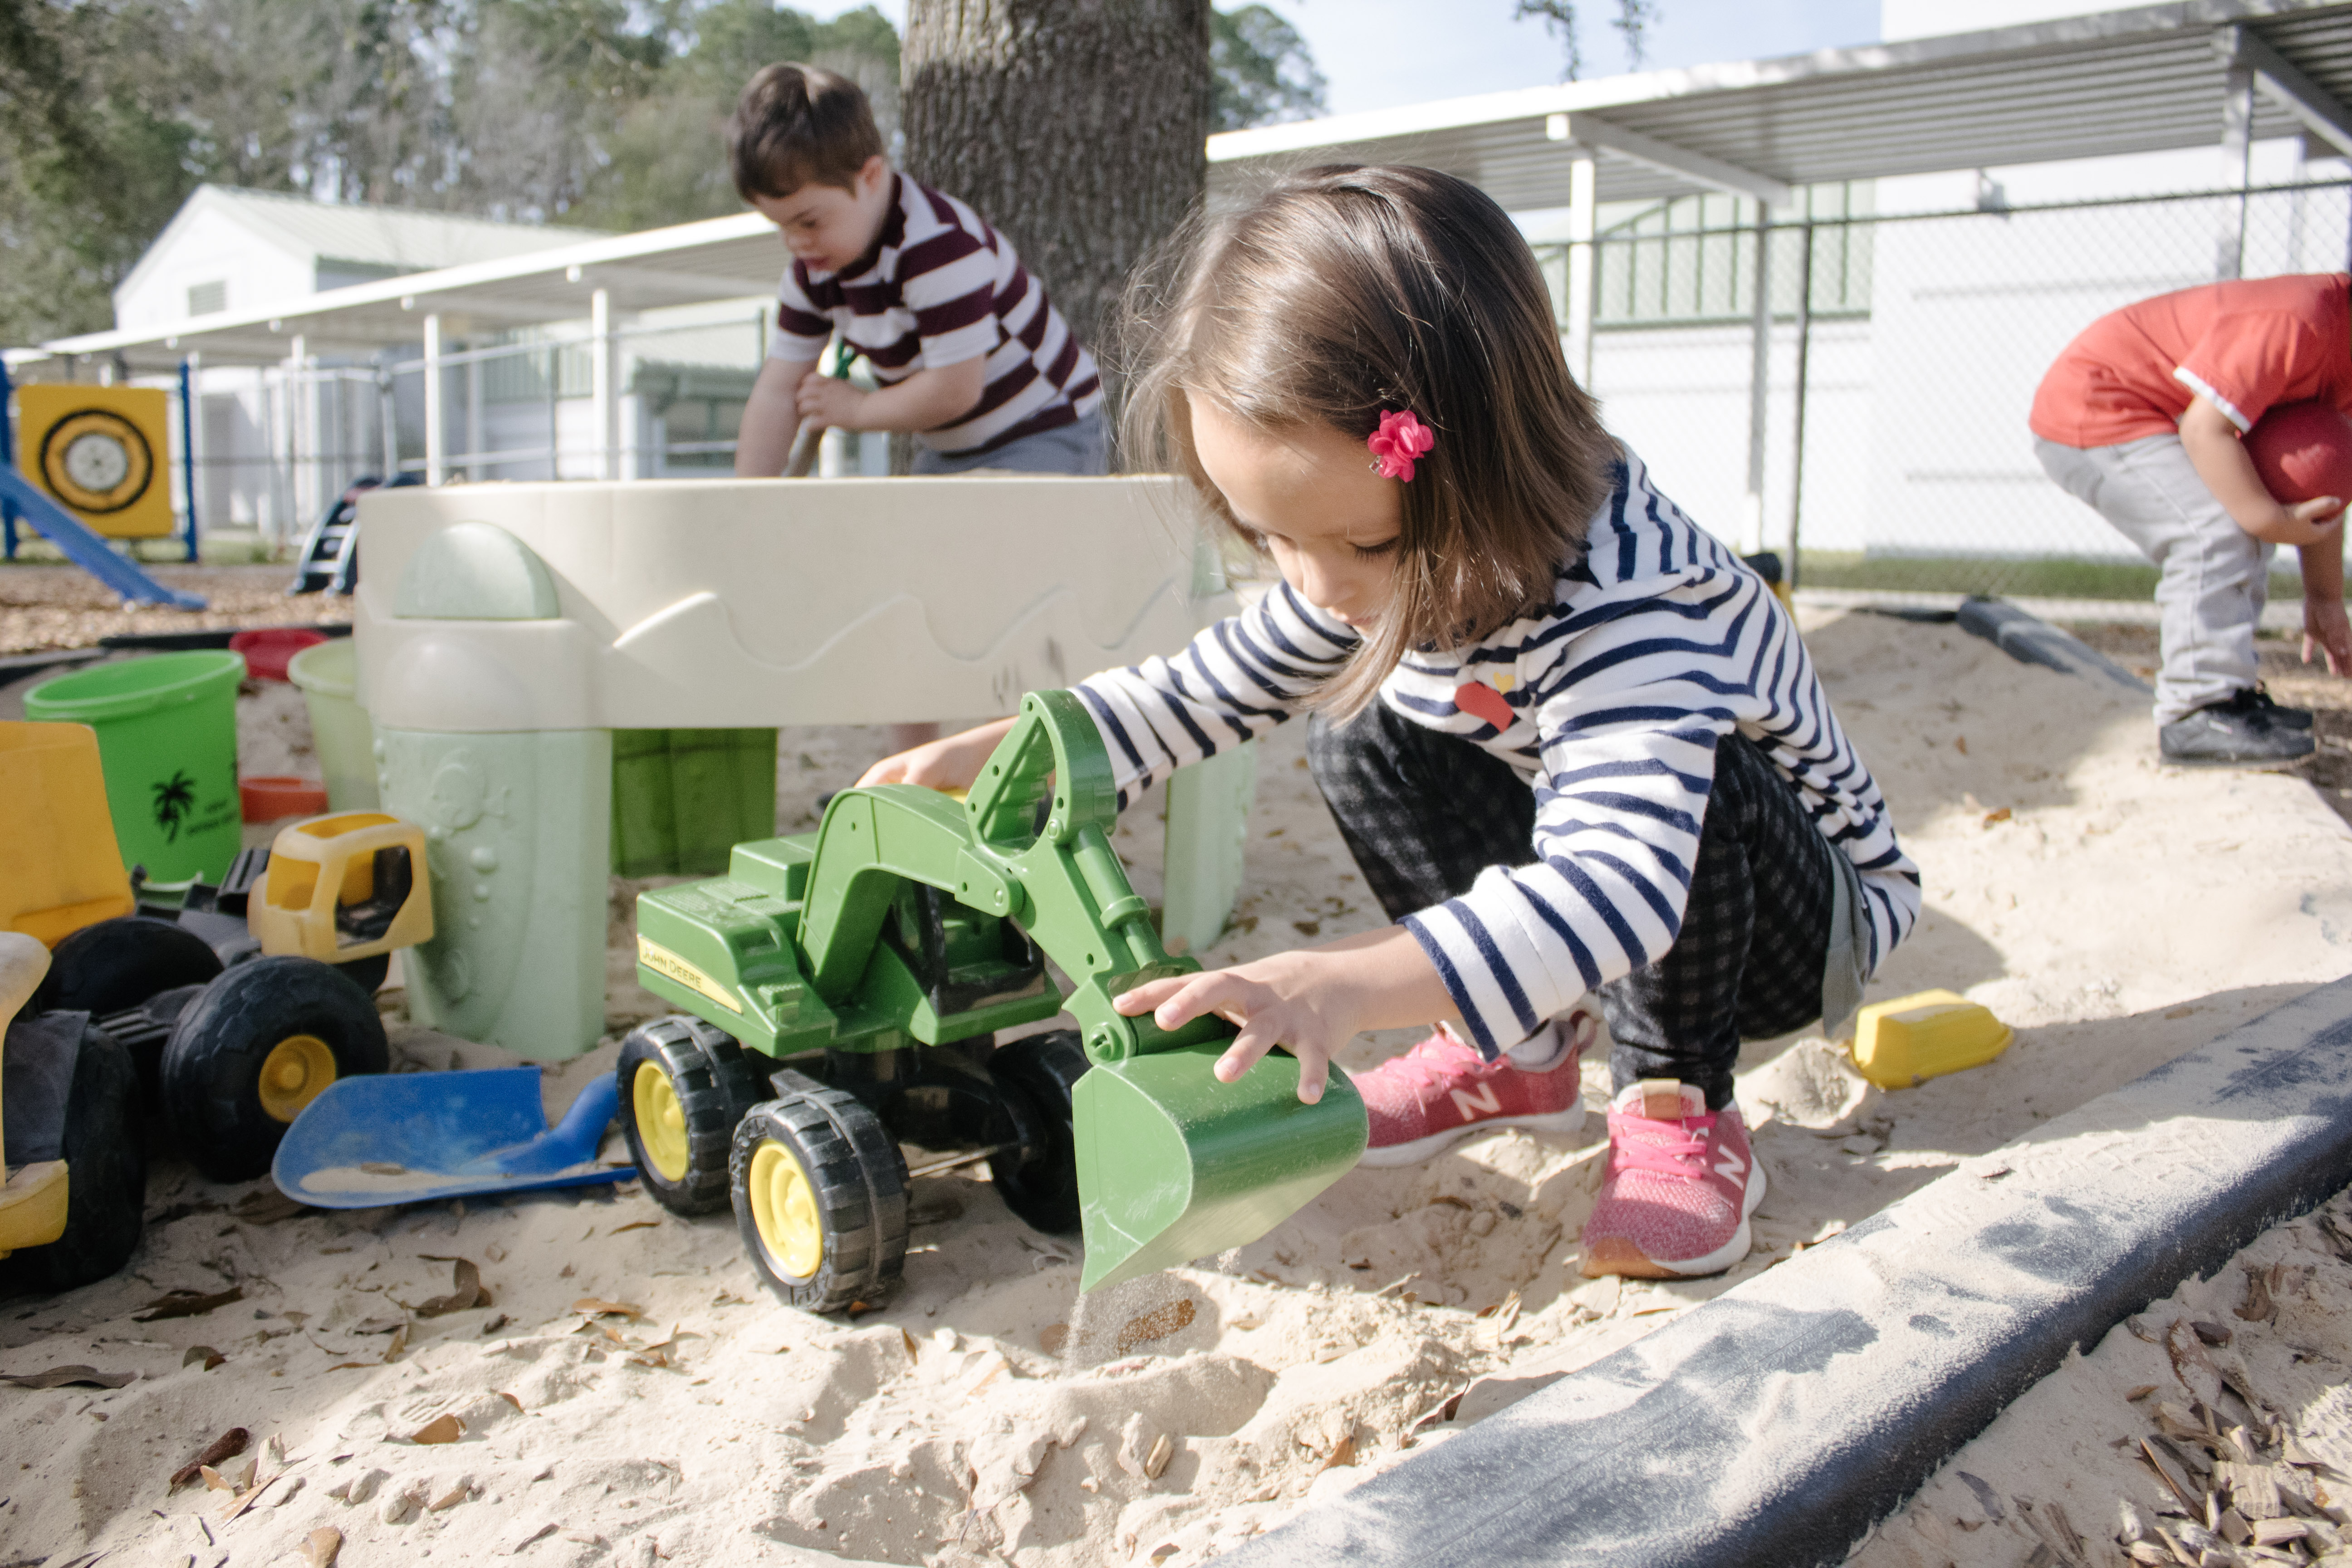
[[[1110,1006],[1124,1018],[1150,1013],[1162,1030],[1216,1013],[1242,1030],[1216,1058],[1218,1081],[1237,1081],[1282,1046],[1298,1058],[1298,1098],[1308,1105],[1322,1100],[1331,1058],[1357,1032],[1418,1027],[1454,1013],[1437,969],[1404,926],[1232,969],[1148,980],[1112,997]]]

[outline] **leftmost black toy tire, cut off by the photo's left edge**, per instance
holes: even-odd
[[[73,1291],[115,1274],[146,1225],[139,1074],[106,1030],[87,1025],[66,1091],[66,1234],[0,1260],[0,1293]]]

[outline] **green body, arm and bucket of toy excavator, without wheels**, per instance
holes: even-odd
[[[967,799],[844,790],[814,835],[739,844],[724,877],[644,893],[637,978],[771,1058],[948,1044],[1070,1011],[1091,1063],[1073,1091],[1080,1288],[1244,1246],[1355,1166],[1364,1100],[1334,1070],[1303,1105],[1284,1053],[1218,1084],[1230,1023],[1164,1032],[1110,1006],[1200,969],[1162,947],[1110,849],[1115,818],[1091,715],[1033,691]]]

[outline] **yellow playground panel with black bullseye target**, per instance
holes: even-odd
[[[16,388],[24,475],[108,538],[172,534],[172,400],[153,386]]]

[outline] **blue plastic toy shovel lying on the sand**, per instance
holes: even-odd
[[[600,1166],[595,1152],[619,1103],[600,1072],[550,1128],[539,1067],[336,1079],[294,1117],[270,1178],[315,1208],[616,1182],[637,1168]]]

